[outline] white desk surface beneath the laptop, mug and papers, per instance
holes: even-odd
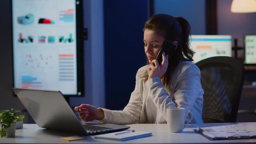
[[[218,124],[202,124],[200,127],[219,126],[235,123],[218,123]],[[252,127],[256,127],[256,122],[249,123]],[[144,137],[130,141],[112,141],[95,139],[93,136],[84,136],[81,141],[62,141],[60,137],[72,136],[75,134],[64,133],[59,131],[49,131],[44,128],[39,128],[36,124],[24,124],[23,129],[16,130],[16,137],[0,137],[1,144],[208,144],[208,143],[225,143],[225,144],[256,144],[256,139],[243,140],[220,140],[210,141],[207,138],[193,131],[197,125],[187,125],[183,133],[169,133],[167,124],[130,124],[130,129],[135,131],[151,131],[152,137]]]

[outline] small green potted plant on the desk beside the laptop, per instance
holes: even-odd
[[[24,115],[17,116],[17,110],[13,108],[10,110],[0,110],[0,136],[11,137],[15,136],[16,122],[22,121]]]

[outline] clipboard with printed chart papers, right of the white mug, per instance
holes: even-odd
[[[232,124],[194,129],[209,140],[256,138],[256,127],[251,124]]]

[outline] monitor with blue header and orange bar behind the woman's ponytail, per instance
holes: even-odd
[[[213,56],[232,56],[230,35],[191,35],[190,45],[196,52],[194,63]]]

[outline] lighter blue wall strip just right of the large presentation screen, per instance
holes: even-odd
[[[83,0],[85,97],[72,97],[72,107],[90,104],[105,107],[103,0]]]

